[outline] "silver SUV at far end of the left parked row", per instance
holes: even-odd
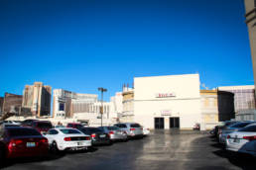
[[[126,131],[128,137],[141,137],[143,136],[143,127],[136,123],[123,123],[115,124],[115,127],[119,127],[122,130]]]

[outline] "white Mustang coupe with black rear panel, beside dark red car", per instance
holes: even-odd
[[[51,128],[45,137],[53,151],[88,149],[91,146],[90,136],[74,128]]]

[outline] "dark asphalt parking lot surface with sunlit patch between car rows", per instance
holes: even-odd
[[[4,169],[255,169],[255,158],[222,149],[199,131],[155,130],[142,139],[99,146],[46,158],[12,160]]]

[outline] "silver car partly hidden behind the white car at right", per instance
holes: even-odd
[[[241,123],[236,123],[236,124],[233,124],[231,126],[227,126],[227,127],[224,127],[222,128],[222,130],[220,131],[220,134],[219,134],[219,142],[222,143],[222,144],[225,144],[226,142],[226,137],[229,133],[231,132],[234,132],[234,131],[237,131],[238,129],[242,128],[242,127],[246,127],[250,124],[253,124],[255,122],[241,122]]]

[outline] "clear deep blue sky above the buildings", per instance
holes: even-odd
[[[137,76],[254,84],[243,0],[0,0],[0,96],[46,85],[105,100]]]

